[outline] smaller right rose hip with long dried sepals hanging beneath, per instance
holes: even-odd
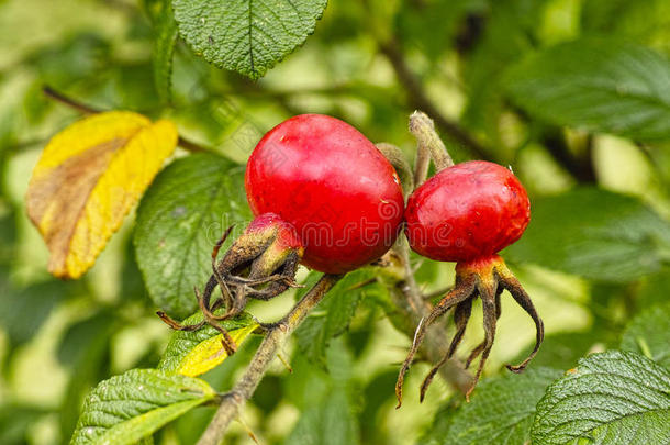
[[[518,366],[507,368],[521,372],[535,356],[544,338],[544,325],[518,280],[498,252],[517,241],[531,220],[526,190],[509,169],[493,163],[472,160],[437,173],[410,197],[405,210],[405,235],[416,253],[440,262],[456,262],[456,286],[433,308],[416,330],[412,349],[400,371],[395,393],[400,407],[402,383],[426,329],[455,307],[456,334],[445,357],[433,367],[421,388],[423,400],[428,385],[442,365],[456,352],[464,336],[478,296],[482,301],[484,341],[466,361],[466,367],[481,354],[474,382],[487,361],[495,324],[500,316],[500,296],[504,289],[532,316],[536,325],[534,351]]]

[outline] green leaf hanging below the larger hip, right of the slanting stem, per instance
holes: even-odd
[[[311,288],[317,274],[312,274],[305,283]],[[295,331],[298,347],[312,363],[325,367],[326,349],[331,340],[344,333],[358,308],[360,299],[369,292],[379,291],[372,269],[359,269],[348,274],[325,297],[308,319]],[[360,286],[367,283],[366,286]],[[304,291],[304,290],[303,290]]]

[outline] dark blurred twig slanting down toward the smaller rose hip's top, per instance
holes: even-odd
[[[389,42],[379,42],[379,51],[387,56],[391,63],[398,80],[407,90],[409,100],[412,107],[423,110],[428,115],[433,116],[437,126],[439,126],[454,141],[467,147],[472,155],[480,159],[493,160],[491,151],[487,149],[482,144],[474,140],[470,133],[462,129],[458,123],[444,116],[439,110],[433,104],[424,92],[421,84],[414,73],[407,66],[407,63],[399,49],[398,42],[392,38]]]

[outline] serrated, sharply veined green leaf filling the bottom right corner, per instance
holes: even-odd
[[[670,372],[645,356],[610,351],[579,361],[537,404],[533,443],[661,445],[670,442]]]

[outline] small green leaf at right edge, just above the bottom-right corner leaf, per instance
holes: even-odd
[[[670,369],[670,303],[654,305],[635,316],[626,326],[621,348]]]

